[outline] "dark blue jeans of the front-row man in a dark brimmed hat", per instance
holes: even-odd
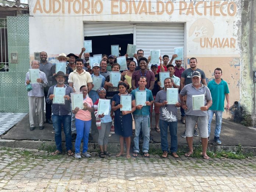
[[[61,125],[63,124],[63,130],[65,134],[66,150],[71,150],[71,115],[52,115],[53,127],[55,130],[55,143],[56,149],[62,152],[61,147]]]

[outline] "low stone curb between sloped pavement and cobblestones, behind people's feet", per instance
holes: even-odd
[[[72,142],[72,147],[74,149],[75,142]],[[142,144],[140,144],[142,145]],[[170,145],[170,144],[169,144]],[[1,147],[14,147],[14,148],[25,148],[25,149],[55,149],[56,145],[54,141],[20,141],[20,140],[10,140],[10,139],[0,139]],[[132,149],[133,144],[131,144]],[[200,146],[200,145],[193,145]],[[62,142],[62,147],[65,149],[65,142]],[[178,149],[186,149],[187,144],[178,144]],[[161,150],[161,143],[150,143],[149,148],[151,150]],[[242,153],[252,153],[256,155],[256,147],[250,146],[227,146],[227,145],[208,145],[207,147],[210,151],[227,151],[227,152],[237,152],[241,150]],[[82,149],[82,143],[81,143]],[[108,150],[110,152],[119,152],[120,144],[119,143],[109,143]],[[88,143],[88,152],[97,152],[99,150],[98,143]]]

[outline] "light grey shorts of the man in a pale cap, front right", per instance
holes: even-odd
[[[192,137],[194,134],[194,129],[198,124],[198,130],[201,138],[208,138],[208,116],[195,116],[186,115],[186,137]]]

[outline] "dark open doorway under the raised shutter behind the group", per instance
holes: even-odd
[[[124,35],[104,35],[85,37],[85,40],[92,40],[93,54],[111,54],[111,45],[119,45],[121,56],[124,56],[127,51],[127,44],[133,44],[133,34]]]

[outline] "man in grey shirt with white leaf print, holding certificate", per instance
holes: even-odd
[[[168,98],[167,98],[167,88],[173,87],[173,79],[172,78],[166,78],[164,79],[164,90],[160,90],[156,94],[156,100],[154,102],[154,105],[156,107],[160,107],[160,115],[159,115],[159,127],[160,127],[160,134],[161,134],[161,149],[163,151],[162,157],[166,158],[168,156],[168,153],[171,152],[171,155],[175,158],[178,158],[177,154],[177,126],[178,126],[178,120],[177,120],[177,107],[181,106],[181,103],[176,102],[178,101],[178,90],[176,94],[176,98],[174,99],[174,102],[176,104],[168,104]],[[170,151],[168,149],[168,139],[167,139],[167,132],[168,132],[168,126],[170,130],[171,135],[171,148]]]

